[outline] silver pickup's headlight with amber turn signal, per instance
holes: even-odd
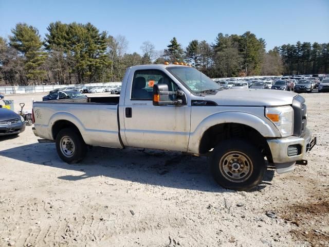
[[[285,107],[267,107],[265,116],[277,126],[282,137],[293,134],[294,110],[289,105]]]

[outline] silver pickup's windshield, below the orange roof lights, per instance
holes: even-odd
[[[209,90],[218,90],[219,85],[206,75],[191,67],[168,67],[173,76],[184,83],[191,91],[202,93]]]

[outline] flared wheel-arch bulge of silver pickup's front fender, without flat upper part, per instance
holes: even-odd
[[[204,133],[210,127],[221,123],[241,123],[242,125],[246,125],[257,130],[264,137],[274,138],[281,136],[275,125],[273,125],[273,123],[265,117],[260,118],[259,116],[251,113],[237,111],[214,113],[201,121],[193,132],[191,130],[188,152],[198,154],[200,141]]]

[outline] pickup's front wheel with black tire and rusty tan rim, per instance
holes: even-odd
[[[234,154],[237,156],[234,156]],[[230,159],[230,157],[232,158]],[[238,162],[236,162],[237,159],[239,159]],[[245,161],[243,162],[243,160]],[[231,172],[230,169],[237,169],[236,166],[242,169],[241,173],[238,173],[238,171]],[[213,150],[211,172],[215,181],[224,188],[250,190],[263,180],[266,169],[261,151],[246,140],[225,140]],[[241,174],[243,177],[241,177]],[[232,178],[234,176],[240,177]]]

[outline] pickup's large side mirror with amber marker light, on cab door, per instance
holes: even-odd
[[[154,84],[153,86],[153,105],[182,104],[181,99],[169,100],[169,95],[182,95],[182,91],[169,92],[167,84]]]

